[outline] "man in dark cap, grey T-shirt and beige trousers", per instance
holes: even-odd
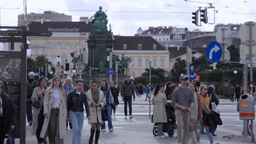
[[[187,87],[188,79],[187,75],[179,77],[181,86],[176,88],[172,94],[172,105],[175,109],[177,122],[177,141],[182,144],[186,144],[189,137],[189,116],[194,105],[194,94]]]

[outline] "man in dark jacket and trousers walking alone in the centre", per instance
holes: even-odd
[[[131,83],[131,77],[130,75],[126,75],[126,81],[122,84],[121,87],[121,95],[124,99],[124,111],[125,111],[125,119],[127,119],[127,102],[129,104],[129,115],[130,119],[132,119],[132,95],[133,95],[133,101],[135,101],[135,92],[133,83]]]

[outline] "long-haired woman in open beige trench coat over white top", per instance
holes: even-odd
[[[55,144],[56,139],[63,143],[68,119],[66,95],[60,77],[54,77],[53,84],[45,92],[44,116],[40,137],[48,136],[50,144]]]

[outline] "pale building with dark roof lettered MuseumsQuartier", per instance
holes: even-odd
[[[77,51],[78,55],[88,52],[86,40],[92,30],[91,22],[31,22],[30,31],[50,31],[51,37],[30,37],[31,44],[51,44],[51,49],[31,49],[32,58],[45,56],[53,64],[57,64],[57,56],[61,57],[61,63],[69,62],[73,68],[70,53]],[[71,73],[71,70],[69,71]]]

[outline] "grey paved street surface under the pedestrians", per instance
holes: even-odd
[[[146,105],[148,101],[145,101],[144,98],[143,96],[142,98],[136,99],[132,110],[134,117],[132,120],[124,119],[124,105],[123,101],[120,100],[121,104],[117,108],[116,117],[113,118],[114,133],[109,133],[108,130],[101,133],[100,143],[176,143],[176,130],[174,130],[173,137],[156,139],[156,137],[153,136],[153,123],[151,123],[151,119],[149,118],[149,105]],[[214,140],[225,144],[249,143],[249,138],[243,140],[228,140],[222,138],[222,136],[225,135],[240,135],[242,133],[242,121],[239,120],[238,113],[236,112],[236,103],[229,102],[227,99],[220,99],[219,110],[223,125],[218,126],[215,133],[217,136],[214,137]],[[255,128],[256,127],[254,127],[254,129]],[[88,121],[85,119],[82,143],[88,143],[89,129],[90,125],[88,125]],[[36,136],[31,136],[30,130],[31,127],[27,126],[27,143],[37,143]],[[16,140],[16,143],[19,143],[18,140]],[[72,130],[67,131],[65,143],[72,143]],[[189,143],[191,143],[191,141],[189,141]],[[206,135],[201,135],[201,143],[210,143]]]

